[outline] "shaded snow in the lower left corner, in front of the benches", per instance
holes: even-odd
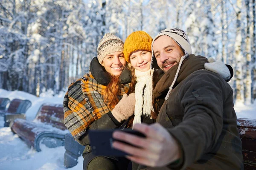
[[[0,170],[81,170],[83,157],[75,167],[64,167],[64,146],[48,148],[41,146],[41,152],[28,147],[10,127],[3,127],[0,120]]]

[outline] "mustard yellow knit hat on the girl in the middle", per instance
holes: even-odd
[[[145,31],[135,31],[125,40],[124,55],[125,60],[130,62],[130,55],[137,50],[146,50],[151,52],[151,43],[153,39]]]

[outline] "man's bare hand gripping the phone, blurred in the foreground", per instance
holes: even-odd
[[[145,134],[146,138],[121,131],[113,133],[114,139],[119,139],[137,146],[134,147],[122,142],[113,142],[114,148],[131,155],[127,156],[131,161],[149,167],[163,167],[181,157],[181,149],[176,139],[160,124],[135,124],[134,130]]]

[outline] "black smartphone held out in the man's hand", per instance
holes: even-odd
[[[129,155],[128,153],[122,152],[121,150],[114,149],[112,147],[112,143],[114,141],[123,142],[121,140],[113,139],[112,134],[115,130],[118,129],[110,129],[110,130],[90,130],[89,131],[89,139],[90,139],[90,146],[93,154],[99,156],[126,156]],[[143,133],[138,132],[137,130],[132,129],[124,129],[122,130],[125,133],[130,133],[133,135],[137,135],[140,137],[144,137]]]

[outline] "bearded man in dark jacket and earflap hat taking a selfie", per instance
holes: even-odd
[[[165,72],[153,91],[156,101],[165,98],[157,123],[134,125],[146,138],[114,132],[115,139],[136,147],[121,142],[113,147],[129,153],[132,161],[161,170],[243,169],[230,85],[204,69],[207,58],[192,54],[189,39],[179,28],[154,38],[152,65],[154,60]]]

